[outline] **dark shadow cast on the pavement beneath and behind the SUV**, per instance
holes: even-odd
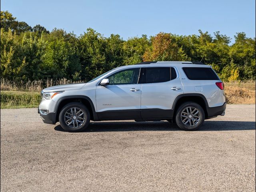
[[[249,121],[205,121],[198,131],[233,131],[255,130],[256,122]],[[56,131],[65,131],[60,125]],[[157,122],[91,122],[83,132],[112,132],[112,131],[178,131],[176,124],[167,121]]]

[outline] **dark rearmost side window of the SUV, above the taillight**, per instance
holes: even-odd
[[[219,80],[212,68],[183,67],[183,71],[190,80]]]

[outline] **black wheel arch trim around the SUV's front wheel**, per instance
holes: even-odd
[[[56,106],[54,108],[54,111],[56,112],[56,122],[59,121],[59,114],[63,106],[65,106],[70,102],[80,102],[84,104],[90,112],[91,120],[98,120],[98,114],[95,111],[92,100],[87,96],[76,95],[76,96],[64,96],[57,101]]]

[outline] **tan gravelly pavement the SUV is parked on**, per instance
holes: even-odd
[[[64,132],[37,109],[1,109],[1,191],[255,191],[255,105],[198,131],[92,122]]]

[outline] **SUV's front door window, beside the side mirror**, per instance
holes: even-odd
[[[140,68],[127,69],[108,77],[110,85],[118,84],[137,84]]]

